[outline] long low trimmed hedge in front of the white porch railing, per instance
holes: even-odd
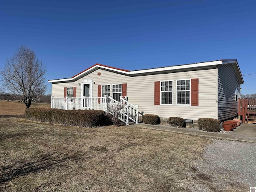
[[[27,109],[28,120],[58,123],[64,125],[96,127],[110,124],[104,111],[100,110],[61,110],[46,108]]]

